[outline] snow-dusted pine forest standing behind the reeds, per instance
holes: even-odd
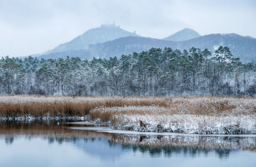
[[[121,59],[0,60],[0,94],[78,96],[254,96],[256,64],[242,63],[228,47],[212,55],[151,48]]]

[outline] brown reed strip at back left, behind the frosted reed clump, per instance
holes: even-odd
[[[0,118],[80,118],[100,106],[167,106],[169,99],[162,97],[0,96]]]

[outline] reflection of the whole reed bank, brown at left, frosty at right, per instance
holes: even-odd
[[[26,138],[44,138],[50,142],[75,141],[79,139],[103,138],[110,144],[140,151],[174,152],[180,149],[197,151],[235,151],[237,149],[256,151],[256,137],[225,136],[159,136],[159,135],[125,135],[118,133],[95,132],[89,130],[67,129],[65,127],[83,127],[75,124],[57,124],[58,121],[0,121],[0,139],[15,142],[21,136]],[[65,121],[62,121],[65,122]]]

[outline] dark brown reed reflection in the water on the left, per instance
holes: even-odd
[[[20,137],[28,138],[81,138],[81,137],[100,137],[93,136],[94,131],[70,130],[65,127],[73,127],[73,124],[65,124],[65,120],[3,120],[0,121],[0,137]],[[59,124],[58,124],[59,123]],[[75,125],[75,127],[81,127]]]

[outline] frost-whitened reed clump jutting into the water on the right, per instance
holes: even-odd
[[[256,133],[256,100],[233,97],[173,97],[167,106],[100,107],[92,121],[114,129],[198,134]]]

